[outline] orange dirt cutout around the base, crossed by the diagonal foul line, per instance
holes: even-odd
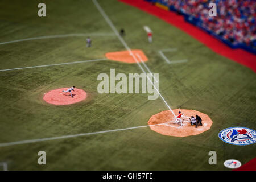
[[[135,56],[135,59],[137,59],[138,62],[145,62],[147,61],[147,56],[144,55],[143,51],[137,49],[132,50],[133,55]],[[133,56],[130,55],[129,51],[118,51],[118,52],[108,52],[105,55],[109,60],[114,61],[121,61],[124,63],[137,63]]]

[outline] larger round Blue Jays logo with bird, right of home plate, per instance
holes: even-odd
[[[229,127],[221,130],[218,137],[226,143],[245,146],[256,142],[256,132],[246,127]]]

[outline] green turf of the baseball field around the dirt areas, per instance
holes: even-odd
[[[92,1],[43,1],[47,17],[39,18],[42,1],[1,1],[0,42],[46,35],[112,33]],[[183,31],[121,2],[98,1],[132,49],[142,49],[148,67],[159,73],[159,90],[172,109],[179,107],[208,114],[210,130],[191,137],[167,137],[149,127],[0,147],[0,162],[9,170],[226,170],[226,159],[242,163],[255,157],[255,144],[233,146],[218,133],[226,127],[255,129],[255,73],[217,55]],[[148,44],[143,26],[154,31]],[[0,69],[101,59],[106,52],[125,50],[115,36],[31,40],[0,45]],[[167,64],[158,50],[172,59],[188,63]],[[141,73],[137,64],[99,61],[84,64],[0,72],[0,143],[57,137],[147,125],[151,115],[167,110],[164,102],[147,100],[147,94],[99,94],[100,73]],[[49,90],[77,86],[88,100],[69,106],[46,104]],[[47,165],[39,166],[38,151],[47,154]],[[217,165],[208,164],[208,152],[217,152]]]

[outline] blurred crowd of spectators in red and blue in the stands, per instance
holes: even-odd
[[[233,45],[256,48],[256,0],[162,0],[183,14],[193,16],[199,25]],[[210,17],[209,3],[217,5],[217,16]]]

